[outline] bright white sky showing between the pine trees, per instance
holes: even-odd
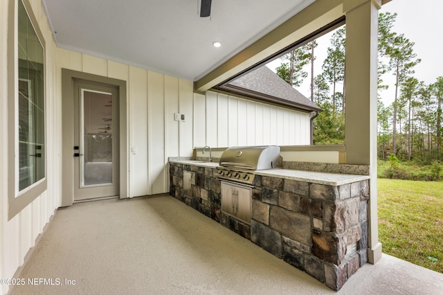
[[[435,82],[438,76],[443,76],[443,38],[440,30],[443,28],[443,1],[442,0],[392,0],[381,7],[380,12],[397,13],[397,19],[392,31],[404,34],[411,42],[414,42],[414,52],[422,62],[415,66],[415,78],[424,81],[425,84]],[[320,73],[329,39],[332,33],[323,37],[316,48],[316,62],[314,71]],[[275,71],[280,64],[275,60],[268,67]],[[310,65],[305,69],[310,73]],[[390,105],[395,98],[395,77],[387,73],[382,77],[388,89],[379,90],[381,100],[385,106]],[[310,97],[309,77],[297,88],[302,94]],[[338,86],[340,87],[340,86]]]

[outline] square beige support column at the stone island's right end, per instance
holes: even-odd
[[[370,165],[368,261],[381,258],[377,222],[377,27],[381,0],[344,0],[346,163]]]

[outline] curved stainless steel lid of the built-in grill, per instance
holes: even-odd
[[[244,170],[281,168],[283,159],[277,145],[228,147],[220,157],[220,166]]]

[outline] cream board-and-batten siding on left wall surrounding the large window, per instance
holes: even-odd
[[[0,137],[8,138],[8,4],[0,1]],[[35,245],[35,239],[61,204],[61,98],[55,84],[60,82],[54,55],[57,50],[52,39],[44,8],[40,1],[30,1],[33,14],[46,42],[45,91],[46,91],[46,178],[47,190],[24,210],[8,218],[8,141],[0,141],[0,278],[12,278],[26,254]],[[4,66],[3,66],[4,65]],[[8,292],[8,285],[0,285],[0,294]]]

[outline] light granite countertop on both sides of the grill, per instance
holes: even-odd
[[[193,165],[205,168],[217,168],[217,162],[199,161],[192,158],[180,157],[170,158],[172,163],[181,163],[186,165]],[[291,169],[269,169],[257,170],[255,175],[279,177],[284,179],[293,179],[298,181],[307,181],[314,184],[325,184],[327,186],[341,186],[343,184],[351,184],[358,181],[370,179],[369,175],[351,175],[331,172],[316,172],[306,170],[291,170]]]

